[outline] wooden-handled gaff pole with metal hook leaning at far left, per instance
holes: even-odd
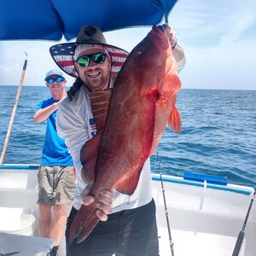
[[[26,54],[26,52],[25,52],[25,54]],[[27,57],[27,54],[26,54],[26,57]],[[4,155],[6,153],[7,145],[9,143],[10,132],[11,132],[12,126],[14,124],[15,113],[16,113],[17,105],[18,105],[19,98],[20,98],[20,91],[21,91],[21,87],[22,87],[25,72],[26,72],[26,64],[27,64],[27,60],[25,59],[23,69],[22,69],[22,73],[21,73],[21,77],[20,77],[20,84],[19,84],[19,87],[18,87],[18,90],[17,90],[16,99],[15,99],[15,106],[13,108],[13,113],[12,113],[11,119],[9,121],[8,131],[7,131],[5,141],[4,141],[4,144],[3,144],[3,150],[2,150],[2,154],[1,154],[1,158],[0,158],[0,165],[3,165]]]

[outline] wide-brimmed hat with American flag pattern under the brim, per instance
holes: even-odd
[[[85,45],[84,45],[85,44]],[[75,43],[55,44],[49,48],[49,53],[58,67],[68,75],[78,78],[74,61],[78,52],[84,47],[99,47],[105,49],[111,56],[111,74],[118,73],[125,62],[128,52],[116,46],[107,44],[101,29],[98,26],[86,25],[81,28]]]

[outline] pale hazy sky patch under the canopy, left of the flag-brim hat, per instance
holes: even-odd
[[[17,85],[27,53],[27,66],[24,85],[45,85],[44,76],[49,69],[56,68],[49,55],[49,47],[55,42],[6,41],[1,44],[0,85]],[[67,76],[67,82],[73,84],[73,78]]]

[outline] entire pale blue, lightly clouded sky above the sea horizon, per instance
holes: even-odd
[[[179,74],[186,89],[256,90],[256,1],[179,0],[169,16],[187,64]],[[150,28],[105,33],[108,44],[131,51]],[[65,42],[65,41],[63,41]],[[55,68],[49,47],[58,42],[0,42],[0,84],[18,85],[25,58],[24,85],[44,85]],[[68,84],[73,78],[67,77]]]

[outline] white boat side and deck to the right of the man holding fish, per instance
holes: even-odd
[[[172,255],[166,224],[162,189],[153,183],[157,205],[160,255]],[[247,214],[253,189],[219,185],[207,189],[205,184],[179,180],[165,182],[166,204],[176,256],[230,256]],[[255,204],[256,205],[256,204]],[[239,256],[255,256],[256,206],[248,218]]]

